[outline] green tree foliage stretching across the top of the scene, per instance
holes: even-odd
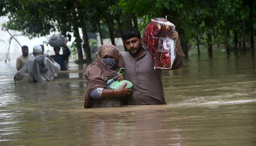
[[[103,38],[110,38],[110,30],[120,37],[131,27],[138,27],[142,34],[151,19],[165,16],[176,26],[181,42],[193,43],[199,38],[201,44],[206,44],[206,36],[211,33],[212,44],[234,46],[234,32],[240,36],[242,20],[246,21],[247,37],[256,34],[256,4],[248,0],[78,0],[79,9],[75,1],[1,0],[0,16],[10,19],[4,24],[7,29],[21,31],[30,38],[56,30],[66,36],[68,32],[74,32],[75,26],[82,27],[79,18],[90,32],[99,32],[101,22]],[[252,31],[248,31],[250,8],[253,9]],[[83,43],[81,40],[76,39],[76,48]],[[89,42],[93,45],[94,40]]]

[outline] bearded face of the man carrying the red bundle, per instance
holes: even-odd
[[[125,40],[125,47],[131,55],[140,53],[142,49],[142,38],[133,37]]]

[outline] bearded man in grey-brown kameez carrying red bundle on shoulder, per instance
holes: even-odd
[[[180,46],[178,32],[173,31],[172,39],[176,39],[177,58],[172,70],[184,66],[184,53]],[[122,52],[124,59],[125,79],[133,83],[134,92],[128,105],[159,105],[166,104],[162,84],[162,70],[155,69],[151,52],[142,47],[142,38],[138,29],[128,29],[124,33],[125,47]]]

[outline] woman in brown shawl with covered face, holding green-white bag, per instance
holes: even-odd
[[[87,66],[84,73],[88,81],[84,108],[119,107],[123,104],[123,97],[131,95],[129,92],[133,91],[124,88],[127,84],[118,89],[103,89],[107,81],[123,67],[123,58],[116,46],[105,44],[99,47],[97,59]],[[122,74],[117,77],[119,81],[124,80]]]

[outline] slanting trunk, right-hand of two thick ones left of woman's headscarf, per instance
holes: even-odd
[[[82,14],[80,13],[80,4],[77,0],[74,0],[76,9],[77,9],[77,13],[78,13],[78,18],[81,24],[81,29],[82,29],[82,34],[83,34],[83,50],[86,54],[86,60],[88,62],[91,61],[91,50],[90,50],[90,45],[89,45],[89,41],[88,41],[88,36],[87,36],[87,30],[85,27],[85,23],[82,17]]]

